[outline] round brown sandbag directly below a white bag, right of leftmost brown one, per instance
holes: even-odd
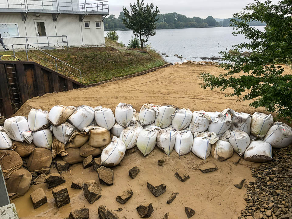
[[[35,148],[27,161],[27,169],[42,174],[50,171],[53,157],[52,152],[46,148]]]

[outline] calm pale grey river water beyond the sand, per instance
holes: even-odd
[[[258,30],[264,30],[265,26],[255,26]],[[220,51],[231,49],[233,45],[248,42],[244,36],[233,36],[232,27],[213,28],[186,28],[157,30],[156,35],[150,37],[151,47],[154,47],[160,54],[166,53],[168,62],[184,61],[185,59],[200,61],[199,57],[220,56]],[[116,31],[119,35],[119,42],[128,44],[133,32]],[[105,32],[106,35],[106,32]],[[182,55],[182,59],[174,56]]]

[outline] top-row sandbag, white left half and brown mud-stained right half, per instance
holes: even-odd
[[[74,113],[75,106],[53,106],[50,110],[48,120],[53,126],[59,126]]]

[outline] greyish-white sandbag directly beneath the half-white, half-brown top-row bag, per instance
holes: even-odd
[[[57,138],[58,141],[61,141],[64,144],[66,144],[69,141],[70,135],[75,130],[76,130],[75,127],[68,122],[65,122],[59,126],[51,127],[51,131],[53,131],[55,138]]]

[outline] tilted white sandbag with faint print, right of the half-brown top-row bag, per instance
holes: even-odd
[[[68,122],[82,132],[82,128],[88,127],[93,119],[94,110],[91,106],[78,106],[75,112],[68,118]]]

